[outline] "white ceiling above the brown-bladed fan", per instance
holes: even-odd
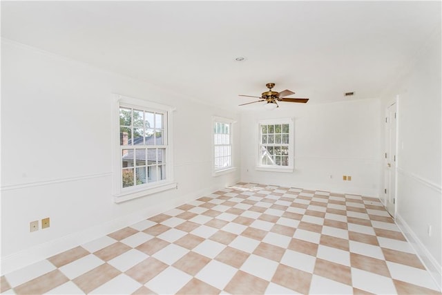
[[[378,97],[440,27],[441,1],[1,1],[3,38],[236,109]]]

